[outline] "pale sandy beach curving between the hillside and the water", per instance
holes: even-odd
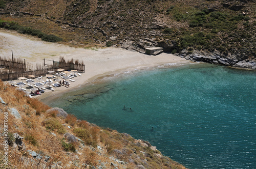
[[[67,93],[106,75],[165,64],[179,66],[191,63],[191,61],[167,53],[154,56],[113,47],[74,48],[57,43],[44,42],[39,38],[3,29],[0,29],[0,41],[2,42],[0,44],[1,57],[10,58],[11,50],[13,50],[14,57],[26,59],[26,63],[29,66],[43,65],[44,59],[59,61],[59,57],[64,57],[66,60],[83,61],[86,65],[85,73],[82,73],[82,76],[75,77],[75,82],[70,81],[69,88],[62,86],[54,88],[55,91],[47,90],[44,94],[36,96],[40,100],[57,97],[63,92]],[[46,77],[43,79],[46,81]]]

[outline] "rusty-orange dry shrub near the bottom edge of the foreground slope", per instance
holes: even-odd
[[[82,155],[84,157],[82,159],[83,163],[94,166],[98,164],[99,155],[95,151],[92,151],[90,148],[84,148],[84,152]]]

